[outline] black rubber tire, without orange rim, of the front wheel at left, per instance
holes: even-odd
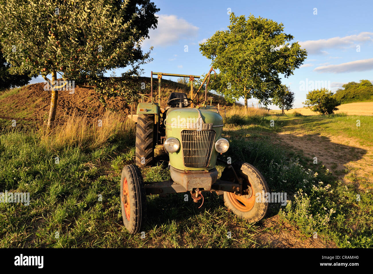
[[[130,216],[127,220],[123,204],[123,181],[127,178]],[[123,224],[129,233],[140,232],[146,216],[146,192],[140,169],[136,165],[125,166],[120,177],[120,206],[122,208]]]

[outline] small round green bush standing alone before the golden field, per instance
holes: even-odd
[[[332,114],[335,110],[338,110],[338,105],[341,105],[341,103],[333,97],[333,92],[325,88],[308,92],[306,99],[307,100],[305,100],[303,104],[312,111],[320,112],[321,114]]]

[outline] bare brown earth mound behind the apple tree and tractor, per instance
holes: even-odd
[[[139,82],[150,83],[150,77],[141,77]],[[139,84],[139,86],[141,86]],[[153,91],[158,96],[158,82],[153,79]],[[173,91],[184,92],[189,96],[190,87],[174,81],[162,79],[161,105],[165,105],[169,94]],[[140,92],[150,94],[150,90]],[[47,119],[50,107],[50,92],[44,91],[44,83],[23,86],[21,88],[3,91],[0,94],[0,124],[16,121],[35,121]],[[213,104],[231,105],[223,97],[213,96]],[[135,105],[136,107],[136,105]],[[107,100],[107,108],[126,116],[131,111],[131,105],[120,97]],[[75,84],[75,93],[60,91],[58,95],[57,119],[76,111],[78,115],[87,114],[88,119],[94,119],[104,114],[105,108],[98,101],[98,94],[92,86]],[[0,126],[1,127],[1,126]]]

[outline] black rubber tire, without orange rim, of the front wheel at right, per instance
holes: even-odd
[[[262,190],[264,190],[264,193],[268,192],[268,185],[266,183],[266,180],[264,179],[260,171],[257,170],[254,166],[248,163],[240,163],[232,166],[236,171],[238,177],[241,176],[248,179],[248,181],[254,188],[253,195],[256,195],[256,193],[258,192],[262,193]],[[235,180],[235,176],[232,170],[226,167],[222,172],[221,180],[227,180],[231,182]],[[254,207],[250,211],[242,212],[241,210],[238,210],[234,207],[234,205],[228,198],[227,192],[224,192],[223,196],[226,207],[228,207],[229,210],[232,210],[232,212],[238,217],[245,219],[250,223],[255,223],[263,219],[269,207],[267,202],[255,202]]]

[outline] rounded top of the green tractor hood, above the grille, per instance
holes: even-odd
[[[166,125],[185,129],[213,129],[223,127],[223,118],[216,108],[171,108]]]

